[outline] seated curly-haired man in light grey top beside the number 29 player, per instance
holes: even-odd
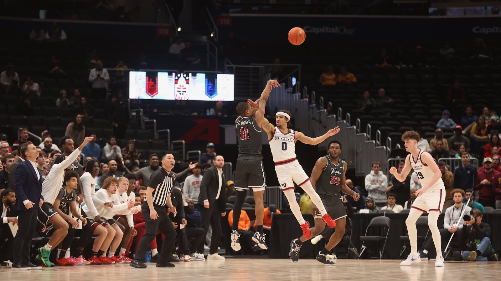
[[[460,230],[463,225],[464,225],[464,220],[463,217],[461,216],[461,212],[463,211],[463,208],[466,208],[464,211],[464,214],[469,214],[471,212],[471,208],[468,206],[463,205],[463,198],[464,198],[464,191],[462,189],[454,189],[451,191],[452,193],[452,198],[454,199],[454,205],[448,207],[445,210],[445,215],[443,219],[443,228],[440,229],[440,238],[441,238],[441,246],[442,246],[442,252],[445,252],[445,246],[447,245],[447,242],[449,241],[450,237],[452,236],[452,233],[457,232]],[[455,226],[454,224],[459,221],[459,224]],[[428,251],[430,251],[433,254],[430,254],[430,258],[434,258],[434,245],[433,245],[433,239],[428,239],[424,243],[424,250],[421,252],[420,257],[421,258],[426,258],[428,257]]]

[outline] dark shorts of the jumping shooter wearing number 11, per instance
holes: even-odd
[[[263,161],[258,159],[236,160],[235,189],[263,191],[266,188],[265,170]]]

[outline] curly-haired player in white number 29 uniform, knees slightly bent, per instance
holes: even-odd
[[[401,182],[407,178],[412,168],[422,186],[421,189],[415,192],[417,196],[416,200],[412,203],[409,216],[405,220],[407,231],[409,232],[411,252],[407,259],[402,261],[400,265],[413,265],[421,262],[419,253],[417,252],[416,221],[423,212],[428,212],[428,226],[430,227],[431,236],[437,251],[435,266],[444,266],[437,220],[438,216],[442,213],[441,210],[445,201],[445,186],[442,181],[442,173],[431,154],[417,148],[419,139],[420,137],[417,132],[405,132],[402,135],[402,140],[405,142],[405,150],[410,152],[410,154],[405,159],[402,173],[399,174],[395,167],[390,168],[390,173]]]

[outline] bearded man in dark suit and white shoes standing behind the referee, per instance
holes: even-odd
[[[198,204],[200,207],[202,228],[207,234],[209,225],[212,226],[212,238],[210,240],[210,250],[207,259],[224,259],[217,253],[217,245],[221,235],[221,216],[226,215],[225,180],[222,174],[224,158],[217,155],[214,158],[214,165],[203,173],[200,183],[200,194]],[[202,244],[203,247],[203,244]]]

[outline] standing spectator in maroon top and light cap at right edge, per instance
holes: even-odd
[[[495,208],[495,195],[492,189],[495,189],[501,182],[501,174],[492,169],[490,157],[483,158],[483,167],[485,169],[478,172],[475,184],[475,190],[478,190],[478,203]]]

